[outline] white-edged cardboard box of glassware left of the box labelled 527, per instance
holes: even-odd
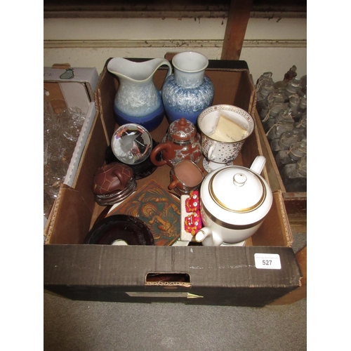
[[[79,107],[81,112],[86,115],[63,182],[65,185],[72,187],[81,154],[91,132],[93,120],[97,116],[94,93],[99,76],[95,68],[78,67],[72,68],[74,74],[70,74],[68,76],[70,78],[65,79],[67,69],[70,69],[69,65],[44,67],[44,89],[46,91],[44,99],[51,105],[55,114],[59,114],[67,107]],[[44,216],[44,227],[46,223],[47,218]]]

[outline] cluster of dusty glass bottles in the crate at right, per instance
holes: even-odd
[[[272,83],[272,72],[265,72],[256,93],[260,121],[284,185],[289,183],[286,191],[307,191],[307,75],[297,77],[293,66],[282,81]]]

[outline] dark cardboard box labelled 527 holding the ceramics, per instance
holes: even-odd
[[[255,89],[246,62],[211,61],[206,74],[215,86],[213,105],[227,103],[251,112],[256,109]],[[239,67],[239,68],[237,68]],[[158,88],[166,69],[154,75]],[[77,300],[169,302],[202,305],[263,306],[300,286],[300,270],[293,250],[282,192],[274,193],[270,213],[258,232],[243,247],[108,246],[81,244],[104,210],[91,191],[93,174],[103,164],[116,128],[112,104],[118,81],[100,75],[96,99],[99,117],[93,122],[74,185],[62,186],[44,245],[44,288]],[[160,141],[166,119],[152,138]],[[251,166],[262,154],[257,129],[235,161]],[[150,177],[164,187],[168,166]],[[267,177],[267,170],[263,172]],[[265,269],[260,260],[274,257],[279,267]]]

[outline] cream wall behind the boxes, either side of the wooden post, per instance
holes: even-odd
[[[96,67],[100,73],[112,57],[164,57],[167,52],[199,51],[220,59],[225,34],[223,18],[66,18],[44,19],[44,66],[69,62]],[[307,20],[251,18],[241,60],[254,81],[263,72],[282,80],[292,65],[307,74]]]

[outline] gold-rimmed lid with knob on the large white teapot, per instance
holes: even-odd
[[[221,168],[210,180],[208,190],[218,206],[232,212],[250,212],[265,201],[263,180],[249,168]]]

